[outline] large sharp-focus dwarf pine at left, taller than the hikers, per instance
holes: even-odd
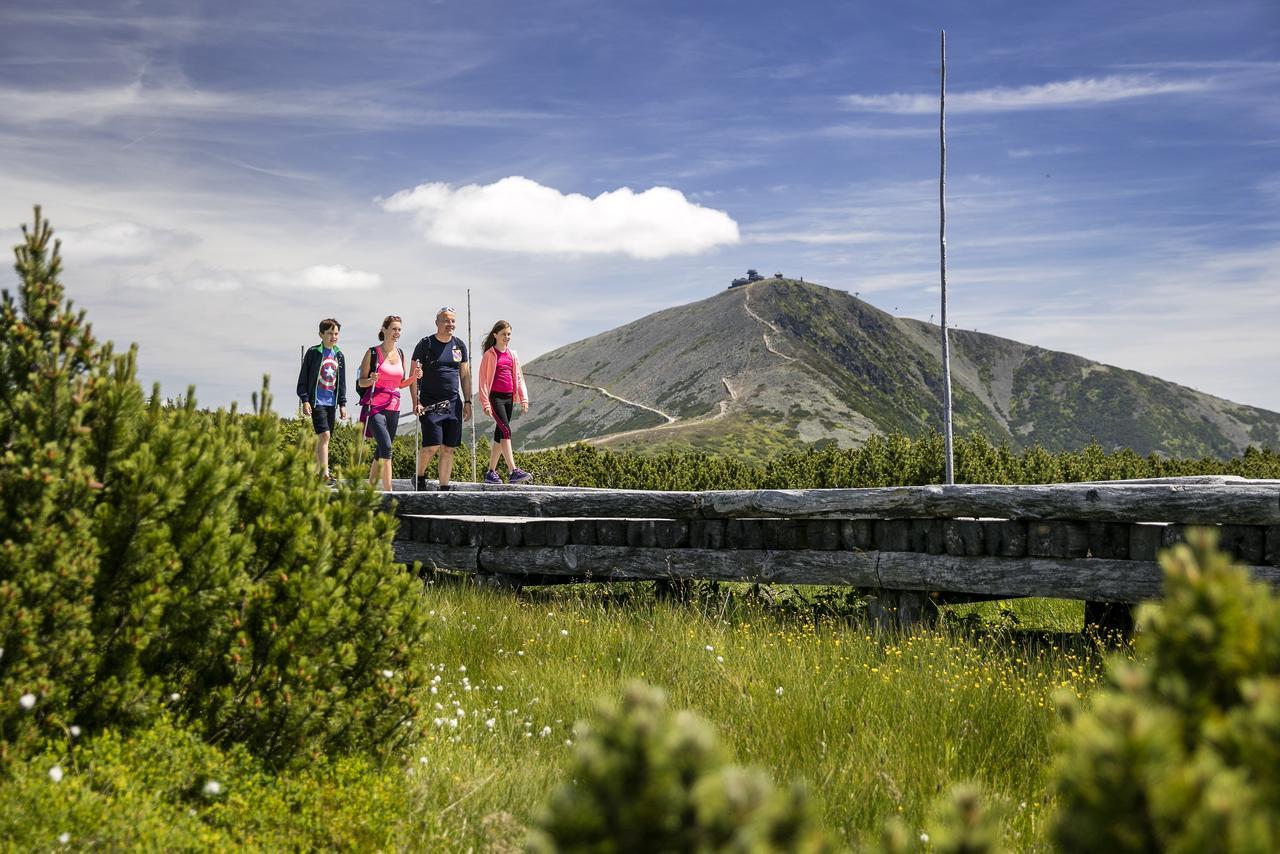
[[[0,750],[170,709],[268,764],[410,735],[425,636],[396,520],[248,416],[150,401],[63,302],[36,211],[0,302]],[[26,698],[26,699],[24,699]]]

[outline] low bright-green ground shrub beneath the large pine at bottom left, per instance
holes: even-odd
[[[55,771],[56,769],[56,771]],[[51,773],[52,772],[52,773]],[[365,757],[273,775],[161,717],[50,745],[0,786],[5,850],[389,850],[413,813],[412,772]],[[65,835],[65,836],[64,836]]]

